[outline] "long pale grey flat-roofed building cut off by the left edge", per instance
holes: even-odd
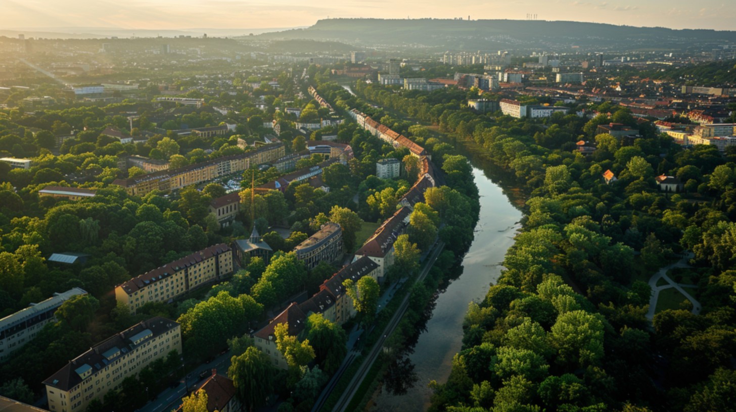
[[[72,296],[87,294],[80,288],[71,288],[43,302],[18,310],[0,319],[0,362],[4,362],[18,349],[38,335],[43,325],[56,320],[56,310]]]

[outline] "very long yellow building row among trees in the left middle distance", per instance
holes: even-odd
[[[261,146],[255,152],[218,157],[183,168],[157,171],[129,179],[116,179],[113,185],[123,186],[132,196],[144,196],[154,190],[172,191],[244,171],[250,166],[274,162],[284,154],[286,149],[283,143],[272,143]]]

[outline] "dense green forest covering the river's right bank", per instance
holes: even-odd
[[[506,271],[470,305],[432,411],[732,410],[736,151],[683,149],[646,126],[631,143],[595,135],[612,120],[637,126],[608,103],[590,119],[532,121],[463,109],[461,90],[354,90],[437,124],[528,192]],[[578,152],[580,140],[595,152]],[[606,184],[608,169],[618,180]],[[683,191],[659,191],[659,174],[678,177]],[[647,280],[688,252],[693,267],[673,276],[695,286],[701,308],[681,296],[649,322]]]

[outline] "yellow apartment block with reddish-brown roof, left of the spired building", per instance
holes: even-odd
[[[226,244],[216,244],[117,285],[115,299],[135,313],[148,302],[171,302],[232,272],[233,250]]]

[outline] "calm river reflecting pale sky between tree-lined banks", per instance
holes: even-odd
[[[469,156],[473,165],[475,185],[481,194],[481,211],[475,227],[475,239],[462,261],[461,275],[437,297],[431,319],[419,335],[414,352],[408,355],[414,368],[416,383],[406,394],[390,394],[385,388],[377,391],[369,408],[372,412],[426,411],[430,405],[430,380],[445,383],[450,375],[453,356],[462,344],[462,323],[471,301],[484,299],[489,285],[500,275],[499,263],[506,249],[514,244],[522,213],[514,207],[500,185],[479,168],[480,160]],[[411,366],[413,365],[413,366]],[[420,406],[421,405],[421,406]]]

